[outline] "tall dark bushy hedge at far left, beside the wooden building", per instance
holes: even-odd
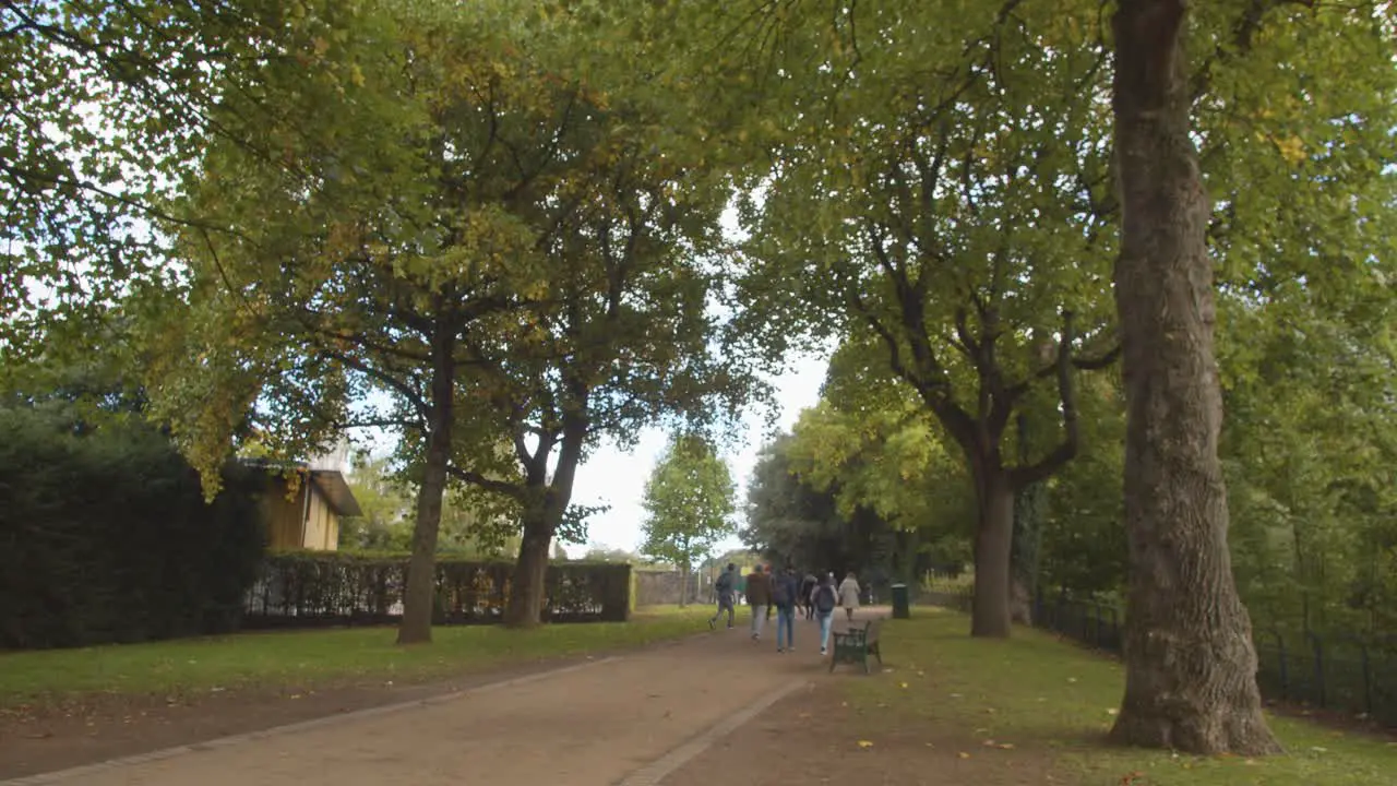
[[[198,476],[140,422],[98,428],[0,408],[0,648],[233,629],[263,554],[253,478],[205,505]]]

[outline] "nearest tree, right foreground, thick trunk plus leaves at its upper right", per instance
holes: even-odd
[[[1208,241],[1231,252],[1224,273],[1235,276],[1234,264],[1255,260],[1243,267],[1246,294],[1228,281],[1232,276],[1224,278],[1224,292],[1239,295],[1243,309],[1284,296],[1282,281],[1291,276],[1301,288],[1331,296],[1333,264],[1352,253],[1368,257],[1361,239],[1375,224],[1390,227],[1383,214],[1390,215],[1393,203],[1355,203],[1348,185],[1333,185],[1336,176],[1355,178],[1359,193],[1372,193],[1386,179],[1382,190],[1391,194],[1390,178],[1366,162],[1393,144],[1393,18],[1380,4],[1284,1],[1192,14],[1178,0],[1136,0],[1120,3],[1113,18],[1123,207],[1115,283],[1125,341],[1130,555],[1126,695],[1113,736],[1190,752],[1271,752],[1278,745],[1261,716],[1250,618],[1227,547]],[[1186,35],[1207,53],[1194,73]],[[1263,74],[1277,76],[1267,83]],[[1352,84],[1363,88],[1355,92]],[[1284,101],[1271,109],[1263,98],[1298,85],[1305,85],[1301,95],[1316,97],[1313,103]],[[1217,218],[1194,148],[1196,109],[1211,120],[1201,133],[1211,143],[1204,161],[1214,151],[1222,155],[1220,140],[1235,133],[1218,123],[1220,115],[1234,123],[1260,117],[1264,130],[1252,136],[1273,147],[1271,155],[1246,157],[1256,173],[1246,178],[1246,192],[1227,194]],[[1277,115],[1285,120],[1275,122]],[[1386,130],[1362,131],[1370,126]],[[1309,138],[1291,136],[1292,129]],[[1268,182],[1284,183],[1284,192],[1268,194],[1271,204],[1261,208],[1255,194]],[[1253,211],[1273,214],[1291,194],[1310,210],[1294,221],[1257,220]],[[1362,220],[1338,228],[1313,221],[1316,211],[1337,204],[1358,206]],[[1260,248],[1266,262],[1256,259]],[[1352,276],[1350,285],[1366,277]],[[1333,302],[1344,301],[1351,298]]]

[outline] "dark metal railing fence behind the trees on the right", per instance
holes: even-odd
[[[970,613],[967,590],[930,590],[919,601]],[[1034,600],[1032,624],[1102,652],[1120,653],[1125,628],[1113,604],[1070,596]],[[1344,712],[1397,727],[1397,642],[1356,636],[1255,632],[1256,681],[1266,699]]]

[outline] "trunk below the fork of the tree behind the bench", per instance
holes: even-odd
[[[988,469],[977,478],[979,522],[975,527],[975,604],[970,635],[1009,638],[1010,558],[1014,540],[1014,490],[1009,473]]]

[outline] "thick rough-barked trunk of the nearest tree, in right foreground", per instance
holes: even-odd
[[[1120,0],[1116,306],[1127,403],[1126,692],[1112,737],[1196,754],[1278,750],[1227,544],[1217,457],[1208,203],[1189,137],[1185,0]]]

